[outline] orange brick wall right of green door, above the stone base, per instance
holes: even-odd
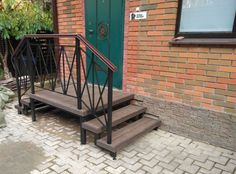
[[[171,46],[177,0],[129,0],[126,11],[148,11],[129,21],[126,12],[125,89],[129,92],[236,114],[236,48]]]

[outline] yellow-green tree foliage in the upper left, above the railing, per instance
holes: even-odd
[[[51,10],[29,0],[4,0],[0,11],[0,33],[4,39],[22,38],[40,30],[52,31]]]

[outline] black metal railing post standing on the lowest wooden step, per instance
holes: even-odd
[[[113,72],[108,68],[108,124],[107,124],[107,144],[112,143],[112,95],[113,95]]]

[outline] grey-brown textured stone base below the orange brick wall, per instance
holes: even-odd
[[[136,95],[135,103],[159,117],[160,129],[231,150],[236,149],[236,117],[176,102]]]

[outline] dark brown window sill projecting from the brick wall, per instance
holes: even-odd
[[[172,40],[169,44],[178,45],[212,45],[212,46],[236,46],[236,38],[184,38]]]

